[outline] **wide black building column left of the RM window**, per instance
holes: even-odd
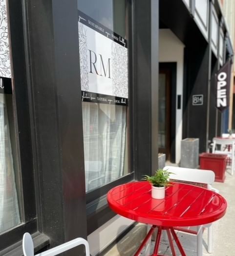
[[[39,230],[54,247],[86,238],[77,1],[25,0],[23,11]]]

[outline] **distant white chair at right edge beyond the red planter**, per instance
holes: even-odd
[[[231,159],[231,175],[235,165],[235,139],[213,138],[212,153],[226,154]]]

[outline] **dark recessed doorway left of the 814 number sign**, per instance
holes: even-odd
[[[159,63],[158,148],[171,162],[175,162],[175,116],[176,63]]]

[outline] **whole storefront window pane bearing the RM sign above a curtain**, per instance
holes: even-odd
[[[86,191],[128,174],[125,0],[78,0]]]

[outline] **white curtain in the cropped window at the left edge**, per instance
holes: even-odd
[[[20,224],[5,96],[0,94],[0,232]]]

